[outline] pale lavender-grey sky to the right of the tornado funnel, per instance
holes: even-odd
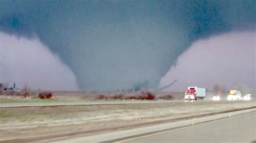
[[[161,78],[159,87],[177,82],[165,91],[184,91],[198,86],[227,90],[243,85],[255,90],[256,32],[231,32],[193,42]]]

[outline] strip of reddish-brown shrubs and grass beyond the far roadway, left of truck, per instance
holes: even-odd
[[[86,92],[86,91],[20,91],[3,92],[0,103],[86,102],[126,100],[180,100],[183,92],[154,92],[152,90]]]

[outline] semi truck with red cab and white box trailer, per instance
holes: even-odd
[[[206,96],[206,89],[199,87],[188,87],[185,92],[185,100],[186,101],[194,101],[198,99],[204,99]]]

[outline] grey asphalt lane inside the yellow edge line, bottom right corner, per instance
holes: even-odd
[[[256,142],[256,112],[116,142]]]

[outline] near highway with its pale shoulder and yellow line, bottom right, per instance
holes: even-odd
[[[41,142],[254,142],[256,109]]]

